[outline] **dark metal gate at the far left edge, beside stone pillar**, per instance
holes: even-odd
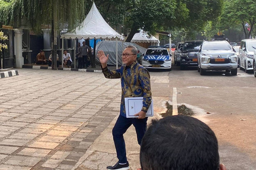
[[[8,26],[6,26],[8,27]],[[2,32],[8,37],[8,40],[5,40],[4,43],[8,46],[8,49],[2,50],[2,59],[3,59],[3,69],[16,67],[15,55],[14,55],[14,30],[10,28],[5,28],[3,26]]]

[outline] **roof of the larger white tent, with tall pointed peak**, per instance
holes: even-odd
[[[93,2],[92,8],[82,24],[78,26],[71,32],[66,34],[62,34],[61,38],[66,39],[111,39],[111,38],[119,38],[123,40],[123,37],[118,34],[115,30],[113,30],[108,23],[101,16],[98,11],[95,3]]]

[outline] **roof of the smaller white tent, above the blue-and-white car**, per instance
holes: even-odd
[[[160,43],[158,39],[156,39],[154,36],[150,37],[148,36],[147,32],[144,32],[143,30],[140,30],[139,33],[134,34],[131,42],[134,43]]]

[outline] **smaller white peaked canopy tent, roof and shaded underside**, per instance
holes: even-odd
[[[154,45],[159,45],[160,43],[157,38],[155,38],[154,36],[150,37],[148,33],[144,32],[143,30],[140,30],[139,33],[134,34],[131,42],[146,48],[148,48],[149,45],[152,45],[152,43],[154,43]],[[146,46],[145,43],[147,44]]]

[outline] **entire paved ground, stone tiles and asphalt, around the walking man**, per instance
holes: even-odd
[[[119,79],[105,79],[102,73],[18,71],[0,82],[0,169],[102,170],[116,162],[111,129],[120,105]],[[200,76],[196,69],[174,66],[150,75],[154,118],[166,111],[166,101],[172,104],[176,88],[178,105],[192,108],[194,117],[216,133],[221,162],[232,170],[256,169],[252,74]],[[134,170],[139,147],[132,127],[125,138]]]

